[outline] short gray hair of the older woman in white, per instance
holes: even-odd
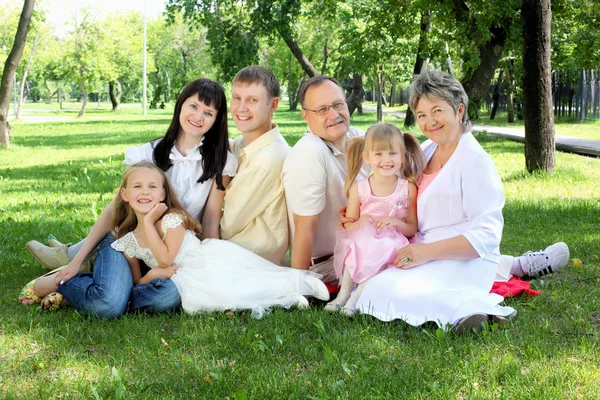
[[[415,76],[410,85],[410,97],[408,99],[408,105],[413,113],[415,113],[417,103],[421,97],[437,97],[445,100],[452,106],[455,113],[458,112],[458,107],[464,104],[465,113],[460,123],[464,128],[464,132],[471,130],[472,124],[469,121],[468,113],[469,97],[460,82],[452,76],[438,70],[424,71]]]

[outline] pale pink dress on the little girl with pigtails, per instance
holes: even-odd
[[[369,179],[357,182],[360,215],[368,214],[377,221],[382,217],[404,220],[408,206],[408,181],[398,178],[396,190],[386,197],[374,196]],[[375,228],[374,222],[361,222],[351,229],[336,232],[333,267],[338,279],[348,268],[356,283],[377,275],[394,262],[396,251],[408,244],[408,239],[394,228]]]

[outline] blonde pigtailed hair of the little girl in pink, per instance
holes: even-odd
[[[403,133],[395,125],[388,123],[371,126],[364,138],[354,138],[346,152],[348,176],[344,183],[344,193],[349,196],[350,187],[358,176],[363,164],[363,155],[370,151],[397,149],[402,157],[400,175],[417,185],[425,169],[425,155],[417,139],[409,133]]]

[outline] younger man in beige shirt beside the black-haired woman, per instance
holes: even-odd
[[[231,117],[242,135],[230,143],[239,166],[225,194],[221,238],[282,265],[289,231],[281,169],[290,148],[271,122],[279,82],[250,66],[235,76],[231,92]]]

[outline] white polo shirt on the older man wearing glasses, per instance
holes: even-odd
[[[350,127],[346,137],[350,139],[364,134]],[[290,150],[283,163],[281,178],[288,206],[291,243],[294,240],[294,214],[319,215],[313,241],[313,258],[333,254],[339,209],[348,204],[344,195],[346,176],[346,155],[310,129]],[[369,167],[363,165],[357,179],[367,176]]]

